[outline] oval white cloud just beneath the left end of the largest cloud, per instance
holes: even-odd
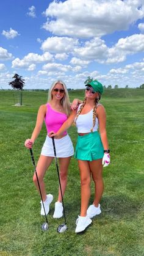
[[[43,51],[51,53],[70,53],[74,46],[78,45],[78,40],[69,37],[48,37],[41,45]]]

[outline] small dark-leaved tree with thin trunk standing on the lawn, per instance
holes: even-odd
[[[12,86],[13,89],[20,91],[19,101],[20,105],[22,105],[22,90],[25,85],[25,80],[22,78],[22,76],[19,76],[18,74],[15,74],[13,78],[15,79],[12,82],[9,82],[9,86]]]

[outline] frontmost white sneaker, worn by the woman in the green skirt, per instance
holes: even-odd
[[[88,216],[82,217],[78,216],[76,220],[76,233],[82,232],[92,223],[92,219],[90,219]]]

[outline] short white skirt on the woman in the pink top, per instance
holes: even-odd
[[[58,158],[67,158],[74,155],[73,143],[67,134],[62,139],[54,139],[56,146],[56,155]],[[51,137],[46,136],[45,143],[41,149],[41,155],[54,157],[54,148]]]

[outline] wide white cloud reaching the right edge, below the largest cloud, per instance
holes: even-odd
[[[73,57],[70,61],[71,64],[82,65],[82,61],[92,62],[96,61],[101,64],[113,64],[123,62],[126,56],[130,54],[139,53],[144,51],[144,34],[134,34],[126,38],[120,38],[118,42],[111,48],[108,48],[104,40],[101,38],[93,38],[86,41],[84,46],[74,49]]]

